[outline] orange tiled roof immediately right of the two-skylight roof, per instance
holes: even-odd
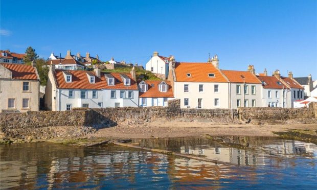
[[[230,82],[261,84],[261,81],[248,71],[221,70],[221,72],[229,79]]]

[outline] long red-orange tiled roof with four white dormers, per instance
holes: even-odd
[[[138,90],[138,84],[131,79],[131,74],[125,74],[131,79],[131,85],[125,86],[119,73],[111,73],[115,78],[115,85],[108,85],[107,79],[104,73],[101,73],[101,77],[97,77],[95,72],[87,72],[84,70],[67,70],[68,73],[72,74],[72,82],[66,82],[63,71],[61,69],[55,69],[55,79],[57,83],[57,88],[62,89],[126,89],[126,90]],[[87,73],[94,75],[95,83],[90,83],[88,81]]]

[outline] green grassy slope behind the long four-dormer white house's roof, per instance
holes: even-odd
[[[130,73],[132,68],[130,67],[122,67],[122,68],[116,68],[116,69],[104,69],[102,72],[104,73]],[[135,68],[135,76],[137,79],[142,80],[162,80],[160,78],[157,78],[154,74],[149,72],[148,70],[144,70],[141,68]]]

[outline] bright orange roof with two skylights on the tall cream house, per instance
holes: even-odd
[[[187,74],[191,77],[188,77]],[[215,77],[209,77],[214,74]],[[176,82],[228,82],[212,63],[186,63],[175,64]]]

